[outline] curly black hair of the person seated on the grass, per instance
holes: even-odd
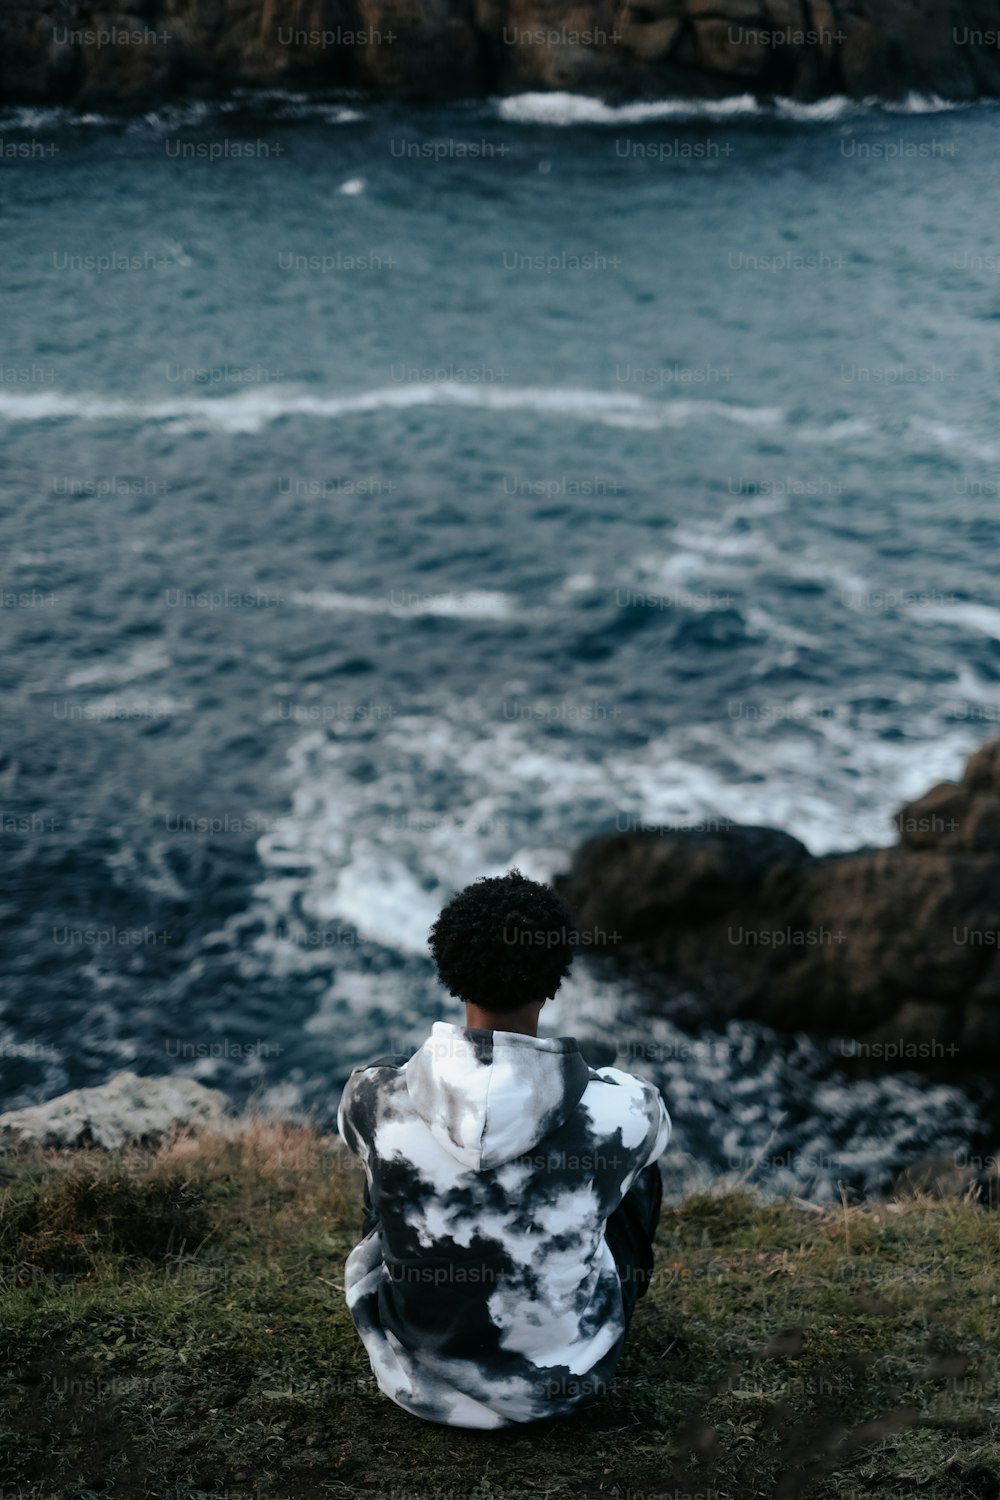
[[[445,990],[499,1014],[552,999],[573,963],[573,928],[553,890],[508,870],[459,891],[429,940]]]

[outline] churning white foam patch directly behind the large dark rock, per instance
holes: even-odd
[[[760,708],[753,693],[748,705]],[[981,740],[930,716],[921,738],[886,741],[850,705],[831,711],[802,696],[784,708],[760,722],[730,705],[721,726],[588,756],[528,718],[498,717],[496,704],[441,704],[379,728],[382,776],[363,784],[351,774],[363,746],[309,734],[289,753],[292,810],[258,842],[268,874],[252,915],[268,932],[309,918],[351,922],[412,954],[426,951],[429,914],[450,890],[513,864],[549,878],[579,837],[610,820],[763,824],[814,854],[886,844],[892,812],[957,776]]]

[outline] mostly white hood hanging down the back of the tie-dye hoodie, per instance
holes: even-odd
[[[522,1156],[580,1102],[591,1070],[573,1036],[525,1036],[435,1022],[406,1066],[414,1110],[474,1172]]]

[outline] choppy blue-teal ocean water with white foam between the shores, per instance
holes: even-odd
[[[886,843],[958,776],[1000,720],[999,128],[0,117],[4,1107],[129,1066],[328,1120],[457,1018],[463,882],[639,824]],[[807,998],[691,1035],[582,958],[543,1014],[661,1083],[678,1191],[990,1138],[985,1080],[852,1080]]]

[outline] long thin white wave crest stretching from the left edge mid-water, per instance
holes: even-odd
[[[721,400],[649,400],[621,392],[465,384],[426,380],[376,387],[357,396],[315,396],[288,387],[255,387],[234,396],[187,396],[172,400],[129,400],[117,396],[76,396],[67,392],[0,394],[0,417],[9,422],[169,422],[193,430],[259,432],[283,417],[340,417],[415,406],[468,406],[481,411],[534,411],[610,428],[658,430],[696,422],[732,422],[738,426],[777,426],[778,406],[736,406]]]

